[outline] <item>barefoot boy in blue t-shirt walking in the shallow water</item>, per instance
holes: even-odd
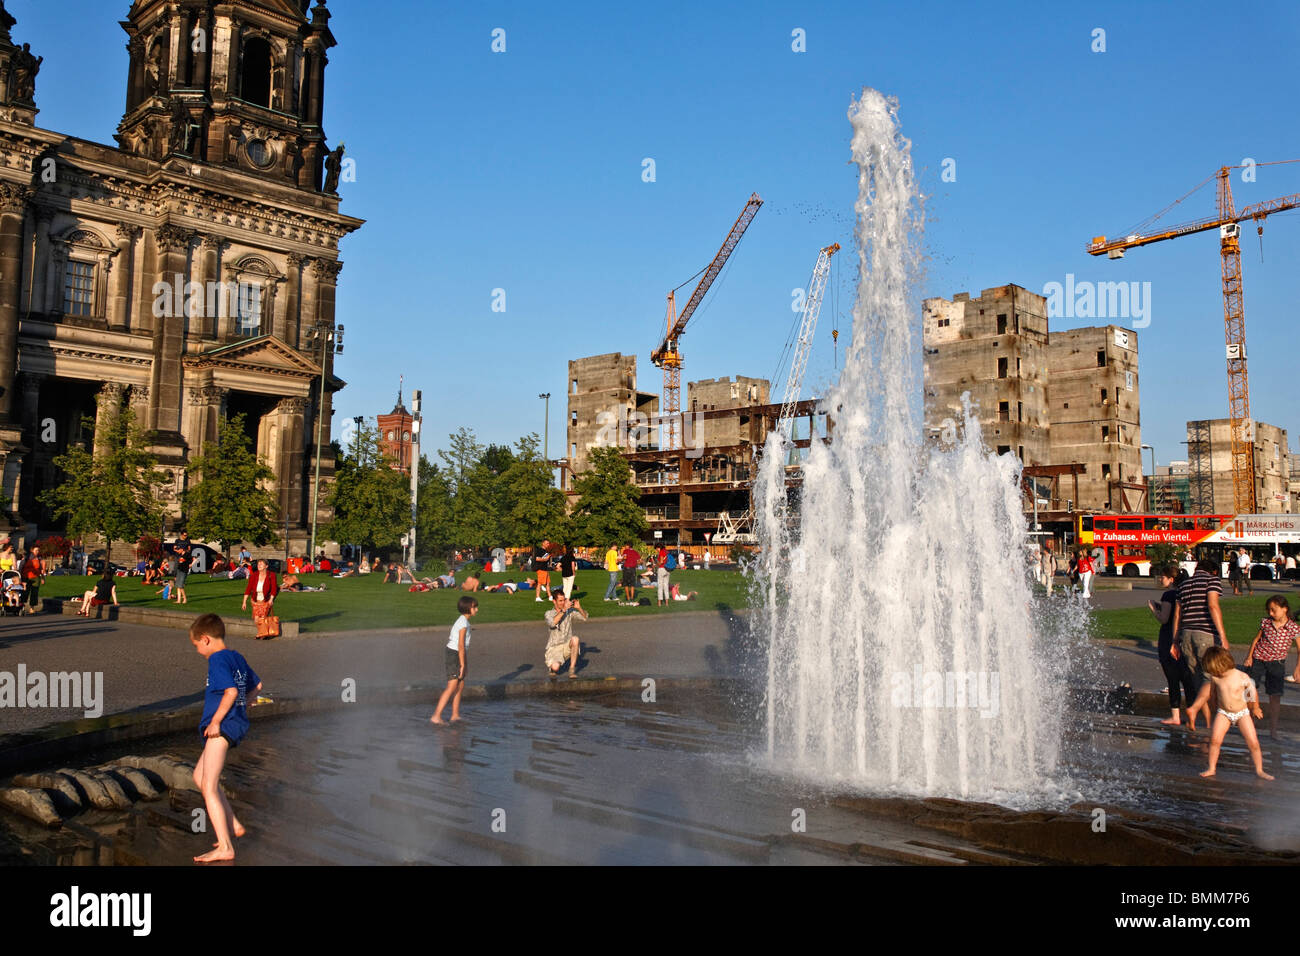
[[[196,864],[234,860],[235,848],[230,839],[243,836],[243,825],[230,809],[230,801],[221,792],[221,770],[226,753],[238,747],[248,732],[248,695],[261,689],[261,680],[243,654],[226,646],[226,626],[216,614],[203,614],[190,626],[194,649],[208,658],[208,683],[203,696],[203,717],[199,735],[203,753],[194,766],[194,783],[203,793],[208,819],[217,836],[216,849],[194,857]]]

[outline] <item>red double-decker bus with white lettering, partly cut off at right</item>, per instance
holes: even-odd
[[[1196,559],[1223,561],[1228,548],[1248,548],[1258,563],[1300,551],[1300,515],[1098,515],[1075,519],[1075,541],[1101,551],[1108,570],[1149,575],[1147,548],[1176,545]],[[1183,557],[1183,555],[1180,555]]]

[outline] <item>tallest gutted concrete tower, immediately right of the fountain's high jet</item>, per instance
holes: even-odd
[[[962,394],[979,407],[984,441],[1026,464],[1049,460],[1046,299],[1018,285],[985,289],[978,299],[922,303],[926,428],[940,434],[963,418]]]

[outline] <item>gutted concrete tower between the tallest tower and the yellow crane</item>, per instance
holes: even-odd
[[[1079,462],[1082,507],[1147,511],[1138,333],[1117,325],[1053,332],[1048,345],[1054,462]]]

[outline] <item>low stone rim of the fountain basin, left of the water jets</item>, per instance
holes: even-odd
[[[655,691],[706,689],[736,683],[736,678],[655,678]],[[311,714],[344,708],[373,708],[394,704],[421,702],[432,709],[441,683],[407,684],[402,688],[368,692],[360,704],[343,702],[341,696],[291,697],[252,708],[252,715],[261,721],[291,714]],[[508,700],[512,697],[567,697],[575,693],[641,692],[642,678],[578,678],[571,680],[516,680],[495,684],[469,684],[463,700]],[[23,773],[47,763],[65,762],[83,750],[124,744],[170,734],[190,732],[198,745],[199,718],[203,705],[192,704],[174,710],[134,710],[108,717],[66,721],[36,731],[0,736],[0,775]]]

